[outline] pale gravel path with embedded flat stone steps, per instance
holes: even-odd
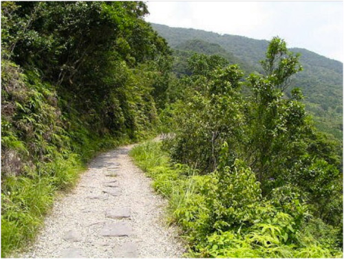
[[[166,201],[128,156],[133,145],[95,158],[77,187],[56,200],[41,234],[21,258],[180,258]]]

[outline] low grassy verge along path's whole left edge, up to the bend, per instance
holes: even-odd
[[[95,138],[78,147],[75,153],[56,154],[50,163],[36,163],[35,169],[26,172],[25,176],[3,180],[1,257],[20,251],[34,239],[57,191],[68,191],[74,187],[90,159],[100,152],[132,142],[129,138]]]

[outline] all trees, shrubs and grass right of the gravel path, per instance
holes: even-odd
[[[301,90],[286,93],[299,55],[274,38],[261,67],[244,76],[220,56],[191,56],[180,99],[161,114],[169,137],[132,155],[170,199],[189,256],[341,257],[341,152]]]

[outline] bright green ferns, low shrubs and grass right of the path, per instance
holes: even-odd
[[[143,143],[130,155],[153,178],[154,189],[169,200],[171,221],[182,227],[189,241],[186,256],[342,257],[336,230],[310,215],[307,206],[288,193],[292,187],[276,189],[274,198],[267,200],[261,197],[255,174],[241,161],[199,175],[186,165],[173,164],[161,145]]]

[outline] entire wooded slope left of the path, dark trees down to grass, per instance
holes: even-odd
[[[144,14],[141,2],[1,3],[2,256],[98,150],[157,125],[169,48]]]

